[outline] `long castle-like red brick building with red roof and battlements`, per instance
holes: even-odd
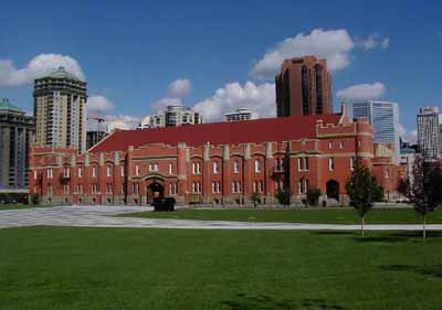
[[[154,195],[180,203],[275,203],[290,186],[293,203],[308,188],[346,202],[345,182],[362,160],[393,193],[398,167],[377,151],[372,127],[343,114],[294,116],[188,127],[117,130],[84,154],[34,148],[30,192],[73,204],[146,204]],[[378,156],[377,156],[378,153]]]

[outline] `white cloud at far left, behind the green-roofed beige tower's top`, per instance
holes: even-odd
[[[15,68],[11,60],[0,60],[0,86],[21,86],[31,84],[38,77],[50,74],[54,68],[65,70],[81,79],[85,79],[78,62],[61,54],[40,54],[33,57],[25,67]]]

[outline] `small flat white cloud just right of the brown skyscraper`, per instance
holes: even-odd
[[[359,84],[341,89],[337,97],[343,100],[372,100],[379,99],[387,92],[382,83]]]

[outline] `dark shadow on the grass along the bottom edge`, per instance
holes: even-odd
[[[293,300],[281,299],[276,300],[269,296],[246,296],[244,293],[238,293],[234,300],[221,301],[221,304],[227,306],[230,310],[256,310],[256,309],[274,309],[274,310],[286,310],[286,309],[303,309],[303,310],[347,310],[336,303],[328,303],[323,299],[304,299],[299,304]]]

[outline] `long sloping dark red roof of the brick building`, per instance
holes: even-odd
[[[91,148],[91,152],[125,151],[150,143],[176,146],[239,145],[246,142],[288,141],[316,138],[316,121],[338,124],[340,114],[261,118],[254,120],[198,124],[134,130],[116,130]]]

